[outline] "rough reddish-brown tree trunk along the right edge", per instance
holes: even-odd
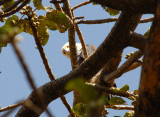
[[[158,0],[159,2],[159,0]],[[135,117],[160,117],[160,2],[149,39],[142,67],[139,100]]]

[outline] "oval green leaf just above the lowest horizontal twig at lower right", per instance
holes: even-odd
[[[121,105],[121,104],[124,104],[124,103],[125,103],[125,101],[121,97],[112,97],[109,100],[110,105]]]

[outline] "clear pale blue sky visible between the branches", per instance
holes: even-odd
[[[70,0],[71,6],[84,2],[84,0]],[[50,6],[49,1],[43,1],[44,6]],[[44,11],[36,11],[39,14],[44,14]],[[100,5],[89,4],[87,6],[80,7],[74,11],[75,16],[84,16],[85,20],[95,20],[110,18],[107,12],[103,10]],[[144,15],[143,18],[150,17],[151,15]],[[118,17],[114,16],[114,17]],[[115,22],[105,23],[105,24],[79,24],[82,34],[85,39],[86,44],[93,44],[98,47],[105,39],[105,37],[110,32]],[[2,24],[1,24],[2,25]],[[136,31],[137,33],[144,34],[151,23],[139,24]],[[52,69],[53,74],[56,78],[64,76],[71,71],[71,63],[68,58],[62,55],[61,48],[68,42],[68,33],[60,33],[59,31],[49,31],[50,37],[46,46],[44,46],[44,51],[49,61],[49,65]],[[45,71],[43,62],[41,60],[40,54],[36,48],[33,36],[27,33],[21,33],[22,41],[18,43],[20,50],[25,58],[31,75],[33,76],[34,83],[36,87],[40,87],[45,83],[49,82],[47,72]],[[76,35],[76,41],[79,42]],[[128,47],[124,50],[122,62],[126,60],[125,55],[130,52],[134,52],[137,49]],[[125,84],[130,85],[129,91],[134,91],[139,87],[140,81],[140,70],[141,67],[130,71],[116,80],[118,87],[122,87]],[[22,67],[17,59],[16,54],[10,44],[2,49],[0,54],[0,107],[6,107],[8,105],[15,104],[18,101],[26,99],[32,92],[26,76]],[[65,95],[70,105],[73,102],[72,92]],[[127,101],[130,104],[130,101]],[[55,117],[67,117],[68,111],[63,105],[60,99],[56,99],[51,102],[48,109],[52,112]],[[10,117],[14,117],[16,112],[19,110],[17,108]],[[113,116],[124,116],[126,111],[111,110],[109,111],[109,117]],[[0,116],[3,113],[0,113]],[[46,117],[45,112],[40,117]]]

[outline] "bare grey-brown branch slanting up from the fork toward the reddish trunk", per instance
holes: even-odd
[[[143,52],[140,50],[135,52],[125,63],[123,63],[123,65],[121,65],[116,71],[104,77],[103,80],[107,82],[109,80],[113,80],[120,77],[142,55],[143,55]]]

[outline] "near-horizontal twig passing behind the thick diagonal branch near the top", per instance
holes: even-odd
[[[108,19],[100,19],[100,20],[79,20],[76,21],[77,24],[102,24],[102,23],[109,23],[117,21],[117,17],[108,18]],[[153,20],[153,17],[141,19],[139,23],[147,23]]]

